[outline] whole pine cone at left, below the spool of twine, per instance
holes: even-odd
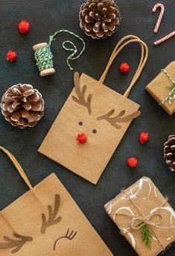
[[[32,85],[13,85],[1,99],[1,112],[14,127],[34,127],[44,115],[45,102]]]

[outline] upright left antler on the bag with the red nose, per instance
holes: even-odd
[[[91,109],[92,94],[89,94],[89,96],[87,97],[87,100],[85,100],[87,86],[83,85],[82,90],[80,89],[80,77],[79,77],[79,73],[77,72],[74,73],[74,89],[76,91],[77,97],[72,96],[72,100],[74,100],[76,103],[82,106],[85,106],[88,109],[89,115],[91,115],[92,114],[92,109]]]

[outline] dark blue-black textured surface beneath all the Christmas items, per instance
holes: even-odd
[[[34,85],[45,99],[45,116],[34,128],[21,130],[12,127],[0,115],[0,144],[19,159],[33,185],[54,171],[113,254],[132,256],[136,253],[105,213],[104,204],[114,198],[120,189],[130,186],[145,175],[153,179],[163,194],[170,197],[171,204],[175,208],[175,174],[168,170],[163,159],[163,144],[168,135],[175,132],[174,116],[169,116],[144,90],[159,71],[174,60],[175,37],[156,47],[153,46],[153,42],[174,31],[175,2],[174,0],[162,1],[166,7],[165,16],[159,33],[153,34],[159,14],[159,11],[156,14],[152,13],[152,7],[156,1],[118,0],[122,16],[121,26],[117,33],[105,40],[92,40],[83,34],[78,22],[79,7],[82,3],[83,0],[0,1],[0,96],[11,85],[22,82]],[[20,19],[28,19],[31,22],[30,34],[24,36],[16,30]],[[100,78],[112,49],[121,37],[135,34],[147,43],[150,50],[144,72],[130,94],[130,99],[141,104],[142,115],[128,129],[97,186],[37,153],[39,145],[73,88],[73,72],[66,66],[67,53],[62,49],[61,44],[65,39],[74,40],[74,38],[65,35],[57,37],[52,45],[54,67],[57,72],[43,78],[39,76],[36,69],[32,46],[35,43],[47,42],[49,34],[54,34],[62,28],[74,31],[86,41],[86,52],[71,64],[74,70],[86,73],[95,79]],[[81,46],[77,40],[74,40],[74,43]],[[16,50],[19,54],[15,63],[10,64],[5,60],[9,49]],[[109,70],[106,85],[123,93],[136,70],[139,55],[140,49],[137,45],[124,49]],[[126,76],[118,71],[118,64],[123,61],[128,61],[131,66],[131,71]],[[147,144],[139,144],[138,136],[141,131],[150,132],[150,141]],[[137,168],[127,168],[126,159],[129,156],[136,156],[139,159]],[[2,153],[0,189],[0,209],[28,190],[13,165]],[[175,245],[165,252],[165,255],[169,256],[174,254]]]

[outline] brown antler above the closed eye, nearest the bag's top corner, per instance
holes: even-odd
[[[57,217],[57,213],[60,207],[60,195],[55,195],[54,210],[52,212],[51,205],[48,205],[48,221],[46,221],[45,214],[42,213],[42,228],[41,233],[45,234],[46,228],[57,224],[61,221],[61,216]],[[55,219],[57,217],[57,219]]]

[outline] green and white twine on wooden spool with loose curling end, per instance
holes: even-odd
[[[60,34],[62,32],[66,32],[66,33],[73,35],[74,37],[77,37],[83,43],[83,49],[76,56],[77,46],[75,46],[74,43],[72,43],[69,40],[63,42],[63,45],[62,45],[63,49],[71,52],[71,55],[69,55],[69,57],[66,59],[66,62],[68,64],[70,70],[73,70],[73,68],[71,67],[71,64],[69,64],[69,61],[73,61],[73,60],[76,60],[77,58],[79,58],[80,55],[82,55],[83,51],[85,50],[86,44],[81,37],[79,37],[77,34],[74,34],[73,32],[71,32],[69,30],[65,30],[65,29],[59,30],[56,33],[54,33],[53,35],[49,36],[49,42],[48,42],[47,47],[37,49],[35,52],[36,66],[38,67],[39,71],[54,67],[53,55],[51,53],[51,43],[52,43],[52,41],[54,41],[56,39],[55,37],[57,36],[57,34]],[[71,48],[66,46],[66,44],[68,44],[68,43],[71,45]]]

